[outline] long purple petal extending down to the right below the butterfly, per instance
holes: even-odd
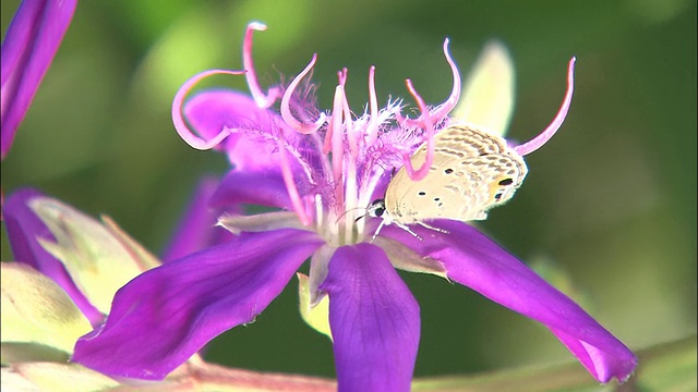
[[[624,381],[630,376],[637,365],[633,352],[525,264],[466,223],[436,220],[430,224],[449,233],[414,225],[423,242],[394,226],[382,234],[442,261],[449,279],[545,324],[597,380]]]

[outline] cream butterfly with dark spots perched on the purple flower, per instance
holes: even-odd
[[[426,151],[426,143],[417,149],[413,168],[424,164]],[[514,197],[527,173],[524,158],[503,137],[471,124],[450,125],[434,136],[434,160],[424,179],[413,181],[402,167],[384,198],[369,205],[368,215],[383,219],[371,241],[388,224],[421,240],[408,224],[443,232],[424,221],[484,220],[488,210]]]

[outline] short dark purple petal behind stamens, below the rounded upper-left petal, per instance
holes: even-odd
[[[250,172],[233,169],[210,198],[212,207],[254,204],[293,210],[280,170]]]

